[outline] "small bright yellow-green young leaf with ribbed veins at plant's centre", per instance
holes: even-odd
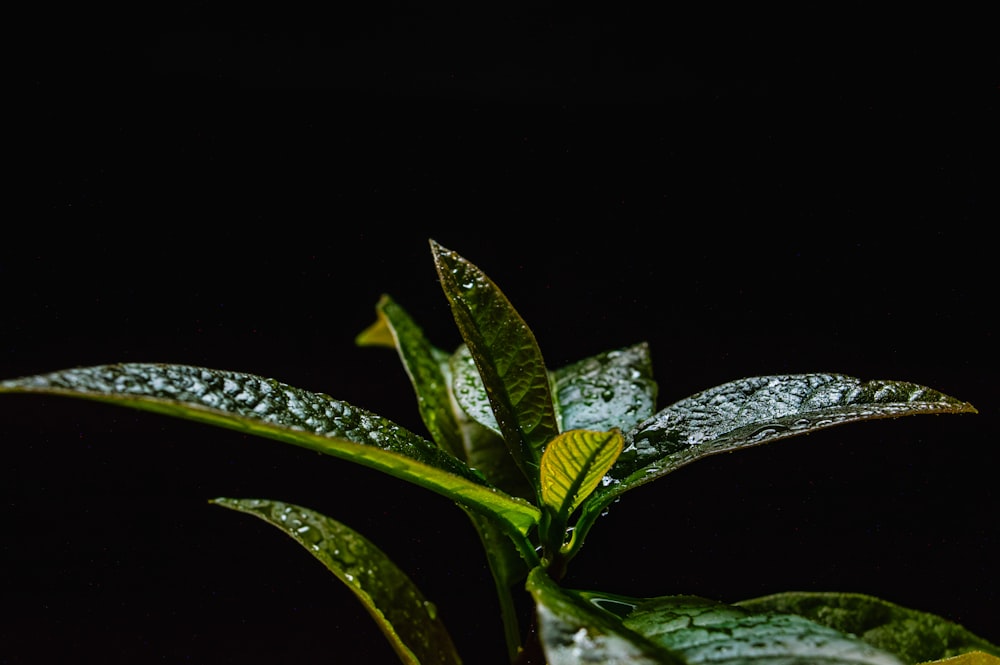
[[[601,482],[622,451],[622,434],[575,429],[554,438],[542,455],[542,501],[561,521]]]

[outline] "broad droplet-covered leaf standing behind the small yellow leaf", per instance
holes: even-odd
[[[552,373],[560,429],[627,431],[656,410],[657,385],[645,342]]]

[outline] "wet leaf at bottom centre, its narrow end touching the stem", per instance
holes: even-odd
[[[617,616],[560,588],[541,568],[528,573],[538,638],[548,665],[682,665],[685,661],[627,628]]]

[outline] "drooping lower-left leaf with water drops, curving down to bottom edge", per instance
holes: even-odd
[[[404,663],[462,662],[434,604],[357,531],[280,501],[222,497],[212,503],[262,519],[306,548],[358,597]],[[273,577],[271,573],[268,576]]]

